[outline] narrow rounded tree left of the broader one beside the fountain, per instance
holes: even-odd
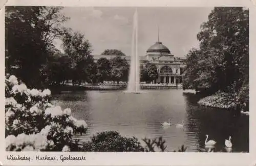
[[[106,58],[100,58],[97,61],[97,78],[103,83],[104,80],[110,80],[111,64]]]

